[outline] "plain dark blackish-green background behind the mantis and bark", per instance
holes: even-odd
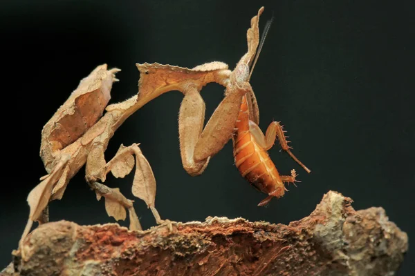
[[[231,143],[203,175],[190,177],[181,167],[183,96],[177,91],[132,115],[110,141],[107,160],[120,144],[141,143],[157,180],[156,206],[174,221],[226,216],[288,224],[337,190],[357,210],[382,206],[409,237],[415,235],[412,1],[2,1],[1,268],[26,224],[26,197],[46,174],[39,158],[42,127],[80,79],[102,63],[121,68],[111,92],[116,103],[137,92],[135,63],[192,68],[217,60],[234,68],[260,6],[266,7],[260,28],[275,15],[251,79],[260,127],[282,121],[293,152],[313,172],[307,175],[278,146],[271,149],[279,172],[295,168],[302,182],[268,208],[257,207],[266,195],[234,167]],[[210,84],[201,95],[208,118],[223,88]],[[132,174],[111,176],[106,184],[132,198],[131,181]],[[137,199],[135,206],[142,226],[154,226],[145,204]],[[64,198],[50,204],[50,219],[113,222],[86,185],[84,169]],[[414,270],[410,248],[399,275]]]

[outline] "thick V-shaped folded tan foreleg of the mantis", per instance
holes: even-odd
[[[199,91],[190,86],[183,93],[178,117],[183,167],[190,175],[200,175],[212,155],[229,141],[237,121],[242,96],[250,91],[249,83],[228,88],[225,98],[214,110],[203,129],[205,103]]]

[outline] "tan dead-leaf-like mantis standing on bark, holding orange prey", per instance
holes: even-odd
[[[134,112],[156,97],[172,90],[183,93],[178,116],[178,132],[183,168],[192,176],[200,175],[210,159],[234,137],[241,105],[248,103],[250,120],[258,124],[259,109],[250,86],[250,66],[259,44],[259,16],[250,21],[247,32],[248,51],[234,70],[219,61],[205,63],[192,69],[160,63],[137,63],[140,72],[138,94],[107,106],[116,79],[117,68],[107,65],[95,68],[82,79],[66,102],[55,112],[42,130],[40,156],[48,175],[41,178],[28,195],[30,215],[19,242],[23,246],[33,221],[48,221],[48,202],[61,199],[68,181],[86,165],[86,181],[97,199],[104,197],[109,216],[125,219],[127,211],[131,230],[141,230],[133,201],[103,183],[111,172],[115,177],[128,175],[133,168],[132,193],[145,201],[156,222],[163,223],[155,207],[156,180],[139,144],[121,145],[116,155],[106,161],[104,152],[109,140],[122,123]],[[225,87],[224,98],[206,126],[205,103],[200,95],[204,86],[215,82]],[[267,131],[268,133],[268,131]],[[275,139],[275,136],[274,136]]]

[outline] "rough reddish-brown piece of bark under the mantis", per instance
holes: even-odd
[[[288,226],[225,217],[146,231],[51,222],[3,275],[394,275],[407,234],[382,208],[355,211],[351,202],[329,192]]]

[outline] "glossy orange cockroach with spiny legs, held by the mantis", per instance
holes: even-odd
[[[250,74],[255,67],[255,63],[259,57],[259,52],[264,45],[264,39],[268,32],[273,19],[270,19],[264,28],[264,32],[259,43],[259,48],[255,61],[253,62]],[[295,170],[291,170],[291,175],[279,175],[275,164],[270,159],[267,150],[273,147],[275,139],[278,137],[279,144],[282,149],[288,152],[297,163],[308,170],[301,161],[293,155],[288,146],[288,141],[284,135],[282,126],[277,121],[273,121],[267,128],[266,134],[258,126],[259,111],[257,101],[253,92],[246,93],[242,98],[241,108],[237,123],[235,125],[235,132],[233,136],[234,160],[235,165],[250,183],[260,190],[262,193],[268,194],[264,200],[259,202],[258,206],[264,206],[273,197],[282,197],[286,191],[285,182],[294,183],[297,181],[295,177],[297,174]]]

